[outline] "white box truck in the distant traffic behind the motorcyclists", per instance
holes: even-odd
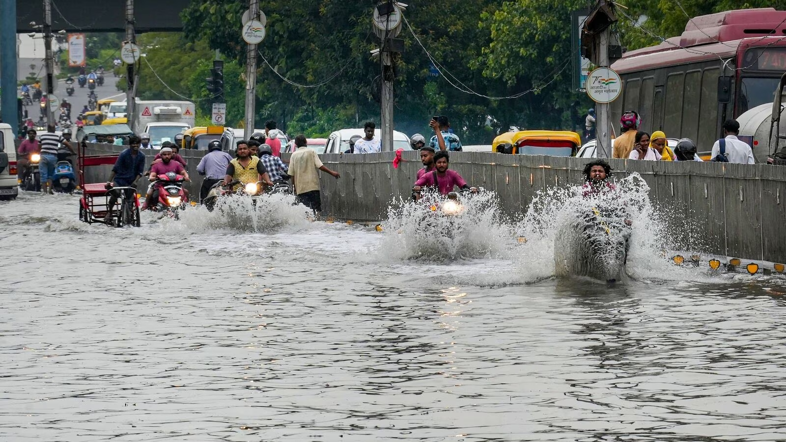
[[[135,134],[149,134],[150,144],[158,148],[174,142],[174,136],[193,127],[196,108],[191,101],[134,99]]]

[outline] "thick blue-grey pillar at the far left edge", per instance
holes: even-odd
[[[17,2],[0,1],[0,89],[2,120],[19,129],[17,111]]]

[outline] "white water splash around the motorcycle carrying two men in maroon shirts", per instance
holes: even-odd
[[[388,260],[446,261],[499,258],[512,245],[496,193],[465,193],[454,215],[443,215],[444,200],[424,194],[421,201],[400,199],[388,207],[379,255]]]

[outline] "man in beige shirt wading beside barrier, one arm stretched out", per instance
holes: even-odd
[[[305,204],[314,212],[322,211],[321,195],[319,193],[319,174],[317,169],[341,178],[338,172],[326,168],[317,155],[317,151],[307,147],[306,135],[299,134],[295,137],[297,150],[289,158],[289,175],[295,182],[297,201]]]

